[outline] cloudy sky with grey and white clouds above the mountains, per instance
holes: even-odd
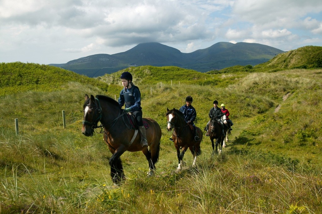
[[[160,42],[322,46],[321,0],[0,0],[0,62],[66,63]]]

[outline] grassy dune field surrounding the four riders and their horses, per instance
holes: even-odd
[[[321,69],[128,70],[142,93],[143,116],[162,129],[156,176],[146,177],[142,153],[126,152],[127,179],[114,186],[102,135],[81,134],[85,93],[118,97],[122,71],[55,90],[20,88],[0,97],[0,213],[322,213]],[[186,153],[186,168],[175,173],[165,113],[184,105],[187,95],[194,98],[196,126],[203,129],[214,99],[225,103],[234,126],[222,156],[211,155],[204,137],[197,167]]]

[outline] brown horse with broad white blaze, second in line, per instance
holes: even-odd
[[[193,157],[194,157],[194,163],[192,166],[195,166],[197,156],[201,154],[200,149],[200,142],[202,140],[203,134],[199,127],[196,126],[198,136],[200,140],[195,141],[194,140],[194,130],[191,130],[189,124],[185,122],[185,118],[177,109],[169,110],[167,108],[166,113],[167,118],[167,130],[172,132],[172,139],[175,143],[175,149],[177,150],[177,157],[178,157],[178,168],[177,172],[182,169],[183,166],[185,166],[185,162],[182,160],[183,156],[185,155],[185,152],[189,148]],[[180,154],[180,148],[182,148],[182,152]]]

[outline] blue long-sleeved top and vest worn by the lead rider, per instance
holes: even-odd
[[[118,98],[118,105],[122,107],[125,104],[125,107],[130,107],[131,112],[142,111],[141,107],[141,92],[137,86],[132,85],[131,88],[123,88],[120,92]]]

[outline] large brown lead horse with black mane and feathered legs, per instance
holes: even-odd
[[[82,133],[85,136],[93,136],[94,129],[104,127],[104,141],[109,146],[109,151],[113,154],[109,159],[111,167],[112,181],[120,184],[125,179],[123,166],[120,156],[125,151],[137,152],[142,151],[149,163],[148,176],[154,175],[155,164],[159,159],[161,128],[159,124],[150,118],[144,118],[148,124],[147,146],[141,146],[141,136],[138,130],[130,125],[128,114],[125,113],[114,99],[97,95],[85,95],[85,103],[83,106],[84,120]],[[101,126],[97,126],[100,121]]]

